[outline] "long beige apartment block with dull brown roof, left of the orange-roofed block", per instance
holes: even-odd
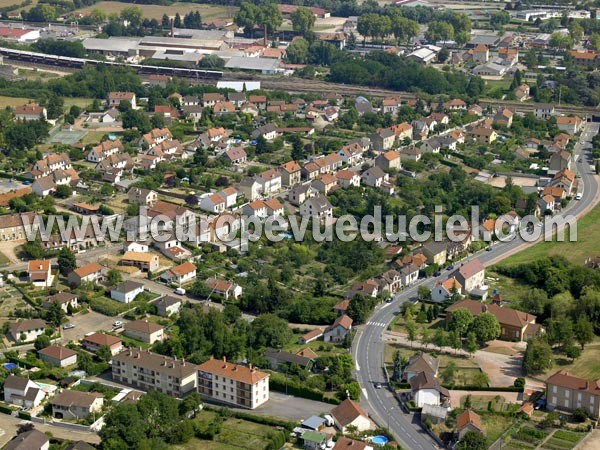
[[[154,389],[174,397],[197,386],[198,366],[148,350],[129,349],[112,359],[112,378],[139,389]]]

